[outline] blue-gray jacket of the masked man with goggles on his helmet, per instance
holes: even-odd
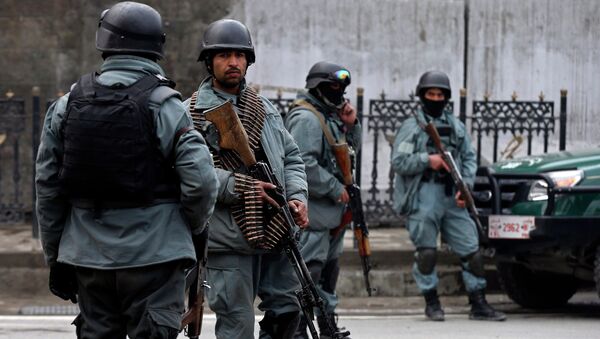
[[[317,109],[338,142],[345,140],[358,152],[362,134],[358,122],[344,132],[344,122],[335,111],[306,91],[300,91],[297,98],[306,100]],[[344,211],[344,204],[338,202],[344,190],[343,178],[319,119],[309,109],[298,106],[288,113],[285,124],[302,152],[302,160],[306,167],[310,230],[318,231],[339,226]]]

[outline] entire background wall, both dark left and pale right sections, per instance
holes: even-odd
[[[101,62],[94,48],[98,16],[114,2],[2,0],[0,95],[11,89],[28,99],[30,109],[32,86],[41,87],[43,98],[54,97],[79,74],[96,69]],[[484,93],[506,100],[513,91],[520,99],[535,100],[543,91],[546,100],[558,103],[565,88],[567,148],[599,144],[594,131],[600,124],[597,0],[143,2],[163,14],[168,36],[162,65],[184,95],[205,74],[195,62],[203,30],[213,20],[230,17],[246,22],[253,32],[257,63],[248,79],[255,84],[303,87],[310,66],[330,60],[350,68],[348,95],[354,98],[356,88],[364,87],[366,104],[382,91],[389,98],[408,98],[419,75],[429,69],[450,75],[454,98],[465,82],[470,100]],[[500,147],[506,142],[501,139]],[[550,149],[556,148],[551,143]],[[380,155],[384,163],[386,152]],[[30,168],[23,166],[23,178],[30,178]],[[365,176],[369,172],[363,168]]]

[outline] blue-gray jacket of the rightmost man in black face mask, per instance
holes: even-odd
[[[423,111],[420,110],[418,115],[419,121],[424,123]],[[452,151],[465,183],[473,187],[477,158],[465,125],[449,111],[444,111],[439,118],[433,119],[433,122],[436,126],[450,125],[451,144],[454,146],[445,146]],[[429,167],[429,154],[433,152],[427,148],[428,140],[429,136],[419,127],[414,116],[406,119],[396,134],[392,151],[392,169],[395,173],[393,206],[401,215],[411,214],[418,209],[415,202],[416,193],[423,172]]]

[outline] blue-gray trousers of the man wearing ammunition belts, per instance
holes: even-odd
[[[217,316],[215,335],[218,339],[254,337],[257,296],[261,300],[258,308],[274,317],[300,312],[294,293],[300,283],[284,253],[209,252],[207,267],[211,286],[207,299]],[[260,338],[269,338],[269,335],[261,331]]]

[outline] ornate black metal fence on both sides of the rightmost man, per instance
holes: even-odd
[[[358,107],[362,113],[362,95],[358,95]],[[472,102],[472,114],[467,115],[466,91],[461,90],[459,99],[459,118],[467,126],[471,126],[471,135],[476,143],[477,163],[482,160],[482,142],[486,137],[493,140],[492,154],[486,158],[493,162],[498,160],[498,139],[501,135],[512,135],[527,139],[527,154],[532,153],[534,138],[542,138],[544,152],[548,151],[548,141],[559,126],[559,150],[565,149],[566,123],[567,123],[567,92],[561,91],[560,114],[557,117],[554,111],[554,102],[544,101],[540,94],[538,101],[518,101],[516,95],[508,101],[491,101],[484,98]],[[370,182],[364,183],[362,191],[365,217],[371,225],[390,225],[398,223],[398,216],[392,209],[393,179],[394,174],[389,166],[389,155],[395,132],[402,122],[419,108],[419,103],[414,97],[409,100],[391,100],[381,95],[380,99],[370,100],[369,109],[362,115],[362,123],[366,128],[363,131],[363,140],[372,140],[370,149],[363,148],[362,152],[369,152],[370,162],[360,156],[359,169],[370,171]],[[453,110],[449,103],[449,110]],[[522,139],[518,139],[522,140]],[[514,151],[514,149],[513,149]],[[385,177],[383,177],[385,176]],[[360,171],[357,173],[360,178]]]

